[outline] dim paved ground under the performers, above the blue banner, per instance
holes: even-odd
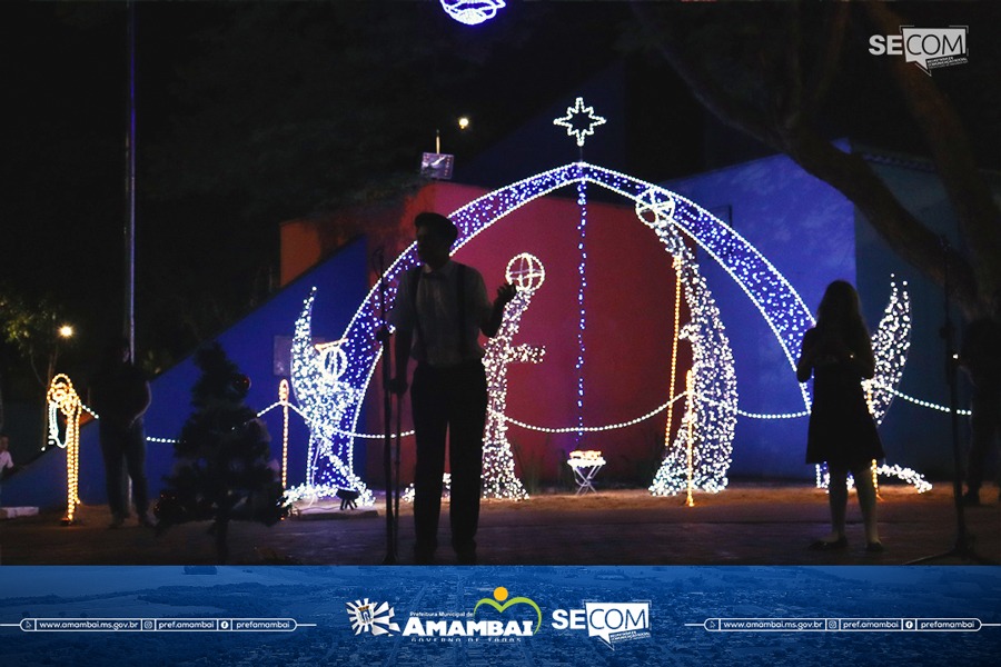
[[[965,511],[973,551],[1001,561],[1001,505],[984,489],[984,507]],[[522,502],[485,501],[479,530],[483,565],[901,565],[940,555],[957,544],[952,487],[938,484],[919,495],[912,487],[881,489],[880,531],[886,550],[871,555],[854,494],[850,498],[849,548],[806,549],[829,530],[826,495],[799,486],[733,484],[726,491],[654,498],[645,490],[595,495],[539,495]],[[340,511],[337,504],[301,508],[270,528],[234,524],[231,564],[377,565],[386,552],[383,500],[377,510]],[[447,511],[447,505],[445,506]],[[399,563],[410,564],[413,521],[403,504]],[[216,560],[207,524],[174,527],[161,536],[135,520],[110,530],[106,506],[85,506],[72,526],[61,512],[0,521],[3,565],[178,565]],[[447,545],[447,518],[443,517]],[[439,563],[455,563],[450,549]],[[948,557],[939,564],[964,564]]]

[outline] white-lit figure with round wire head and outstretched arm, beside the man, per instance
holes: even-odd
[[[523,252],[507,265],[507,280],[518,293],[507,305],[497,335],[485,346],[484,366],[487,376],[487,422],[483,438],[483,497],[523,500],[528,497],[515,475],[514,457],[507,440],[504,412],[507,407],[507,367],[511,364],[539,364],[545,348],[511,344],[518,332],[522,316],[532,303],[532,296],[546,279],[543,263]]]

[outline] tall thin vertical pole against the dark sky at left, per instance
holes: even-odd
[[[125,219],[125,337],[129,358],[136,359],[136,2],[129,0],[128,17],[128,119],[126,128]]]

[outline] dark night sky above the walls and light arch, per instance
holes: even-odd
[[[361,108],[366,113],[374,109],[384,112],[383,127],[396,131],[387,129],[385,137],[364,132],[348,137],[386,153],[378,165],[351,165],[361,176],[366,169],[375,178],[410,169],[419,152],[430,149],[435,125],[459,113],[472,115],[475,132],[454,146],[456,152],[465,153],[460,157],[472,159],[541,109],[572,97],[576,86],[618,59],[618,27],[630,16],[621,2],[512,2],[494,24],[470,29],[449,20],[438,3],[430,1],[353,2],[346,13],[344,3],[338,8],[331,2],[297,2],[288,3],[294,6],[288,11],[295,14],[288,24],[265,23],[267,29],[262,29],[251,22],[242,32],[228,31],[241,13],[252,13],[262,4],[153,0],[138,6],[140,347],[159,342],[152,329],[162,329],[176,339],[185,336],[180,328],[170,330],[179,327],[169,307],[170,286],[180,285],[188,301],[192,293],[214,290],[221,302],[246,300],[247,286],[275,269],[277,225],[317,210],[324,196],[336,199],[335,193],[324,191],[329,183],[351,182],[343,175],[336,177],[341,180],[329,181],[318,176],[315,183],[299,183],[300,190],[271,197],[266,206],[248,201],[255,199],[255,190],[248,190],[246,183],[241,183],[244,189],[224,191],[230,168],[244,175],[246,166],[234,162],[254,158],[240,156],[227,163],[226,155],[217,155],[239,148],[232,138],[238,137],[241,122],[267,122],[269,118],[293,126],[305,122],[301,115],[310,100],[297,98],[297,91],[304,90],[316,103],[326,94],[337,99],[339,122],[348,122],[345,98],[355,94],[354,99],[365,100]],[[922,3],[904,9],[913,10],[928,24],[971,24],[971,66],[957,71],[944,86],[979,137],[984,166],[997,169],[1001,167],[1001,99],[997,86],[984,86],[983,77],[994,67],[993,79],[998,79],[1001,24],[997,12],[987,9],[989,4],[930,8]],[[381,9],[365,9],[375,6]],[[393,20],[374,27],[370,21],[385,18],[380,12],[386,7],[392,9]],[[993,31],[981,30],[985,19],[987,24],[993,21]],[[350,21],[360,22],[365,30],[356,30]],[[0,7],[0,72],[7,102],[0,126],[0,281],[28,295],[51,292],[68,305],[70,316],[81,322],[82,334],[77,358],[70,355],[68,364],[81,362],[118,329],[121,318],[125,26],[122,2],[13,2]],[[299,39],[288,40],[287,31],[297,31]],[[340,42],[353,48],[345,49]],[[386,53],[385,59],[364,53],[366,44],[373,43]],[[301,44],[301,50],[296,50],[296,44]],[[852,44],[860,53],[852,67],[871,67],[864,46]],[[435,49],[455,56],[420,59],[418,53]],[[286,56],[277,58],[276,52]],[[394,59],[394,54],[409,52],[415,53],[419,69],[408,70],[408,58]],[[670,69],[650,57],[632,56],[627,62],[634,83],[637,78],[657,82],[641,87],[647,97],[633,106],[671,110],[673,122],[662,127],[654,141],[688,149],[660,150],[661,156],[670,157],[654,161],[631,147],[635,175],[663,180],[714,166],[697,153],[705,128],[716,126],[703,120],[691,96],[680,94]],[[351,69],[353,63],[360,64]],[[325,81],[327,88],[320,86]],[[899,102],[886,90],[885,79],[871,82],[860,78],[858,86],[863,97],[871,96],[874,107],[885,110],[884,122],[879,127],[870,123],[860,132],[851,123],[835,120],[832,133],[869,135],[863,139],[924,152],[913,128],[900,120]],[[415,91],[422,90],[432,92],[434,99],[415,99]],[[856,103],[846,102],[845,109],[850,111]],[[289,118],[283,118],[286,112]],[[656,126],[648,113],[637,113],[628,122]],[[321,115],[309,122],[316,125],[317,119],[321,120]],[[314,136],[328,135],[321,122],[316,127]],[[216,138],[220,140],[218,150],[212,145]],[[304,157],[313,148],[307,141],[289,149],[303,155],[268,157],[278,166],[275,168],[280,168],[284,159],[290,165],[299,160],[308,165],[304,173],[311,175],[329,165],[329,156],[313,156],[311,162]],[[334,150],[336,143],[320,148]],[[199,173],[191,160],[214,166],[209,191],[198,192],[197,183],[192,188],[186,181],[188,173]],[[261,169],[268,167],[274,165]],[[276,189],[280,186],[262,175],[257,192],[268,183]],[[182,349],[172,351],[176,355]]]

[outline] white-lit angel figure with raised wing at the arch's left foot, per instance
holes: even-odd
[[[306,455],[306,484],[290,489],[289,498],[331,497],[339,489],[358,491],[357,501],[375,502],[365,484],[353,469],[350,438],[343,435],[341,424],[348,408],[361,400],[361,390],[341,379],[348,366],[345,340],[316,345],[313,342],[313,302],[316,290],[306,299],[296,321],[291,350],[291,385],[299,410],[309,425]]]

